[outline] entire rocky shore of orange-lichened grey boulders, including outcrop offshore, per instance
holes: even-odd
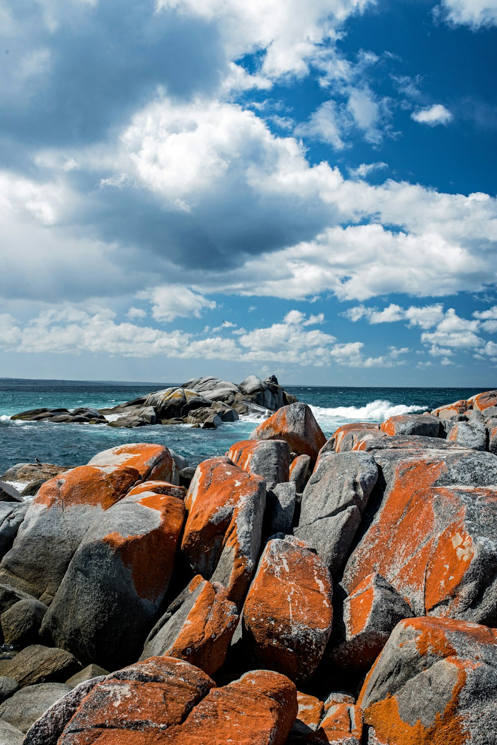
[[[327,440],[272,378],[209,380],[121,410],[275,405],[195,470],[2,477],[0,742],[496,745],[497,390]]]

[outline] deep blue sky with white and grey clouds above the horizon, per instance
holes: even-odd
[[[0,0],[0,376],[497,387],[497,0]]]

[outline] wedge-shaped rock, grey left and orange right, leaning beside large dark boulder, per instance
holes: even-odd
[[[239,618],[225,587],[197,574],[155,624],[140,659],[176,657],[214,675],[225,661]]]

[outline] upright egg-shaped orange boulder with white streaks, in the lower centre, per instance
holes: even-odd
[[[266,544],[243,606],[243,639],[251,657],[296,682],[310,679],[331,633],[330,574],[293,536]]]

